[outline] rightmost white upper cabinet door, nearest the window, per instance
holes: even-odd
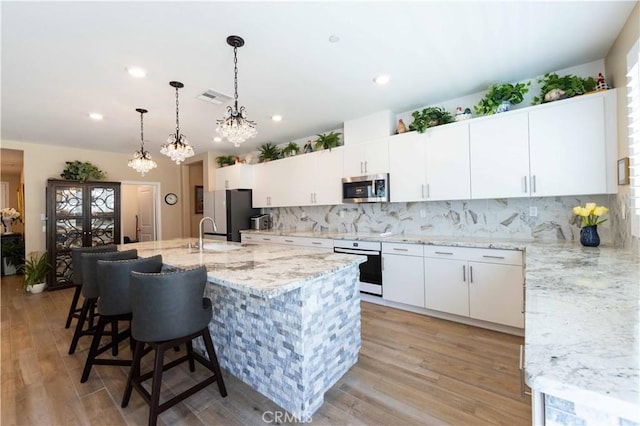
[[[594,95],[529,112],[532,196],[607,192],[604,112]]]

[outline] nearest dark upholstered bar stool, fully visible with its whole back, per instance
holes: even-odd
[[[149,425],[156,424],[160,413],[213,382],[218,382],[220,395],[227,396],[209,332],[213,313],[211,300],[203,297],[206,282],[207,270],[204,266],[160,274],[131,272],[131,334],[136,346],[122,407],[129,404],[132,388],[135,388],[149,404]],[[208,360],[193,351],[192,340],[199,336],[204,339]],[[186,343],[187,354],[165,365],[165,351],[182,343]],[[140,359],[145,345],[155,349],[155,362],[152,371],[141,374]],[[189,361],[189,370],[195,371],[194,360],[211,370],[213,375],[160,404],[162,372],[184,361]],[[142,382],[151,377],[153,382],[149,393]]]

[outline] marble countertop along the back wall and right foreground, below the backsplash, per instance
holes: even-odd
[[[524,250],[525,370],[536,391],[640,423],[640,256],[607,245],[331,232],[298,237]]]

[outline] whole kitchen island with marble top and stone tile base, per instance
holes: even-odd
[[[204,265],[213,303],[209,325],[220,366],[300,421],[358,360],[358,264],[364,257],[322,249],[206,243],[127,244],[167,265]],[[201,347],[203,349],[203,347]]]

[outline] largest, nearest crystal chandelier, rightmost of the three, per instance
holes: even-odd
[[[225,117],[218,120],[216,132],[235,146],[240,146],[242,142],[255,137],[258,132],[256,131],[256,122],[247,120],[244,107],[238,109],[238,47],[244,46],[244,40],[239,36],[229,36],[227,44],[233,47],[234,104],[233,108],[228,106]]]

